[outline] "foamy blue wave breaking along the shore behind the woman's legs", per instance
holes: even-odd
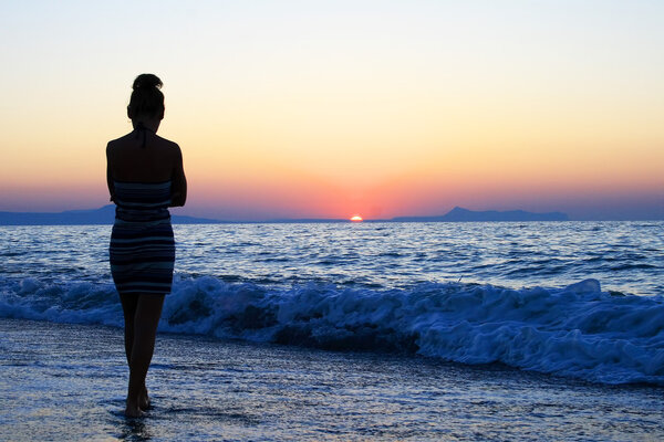
[[[0,280],[0,317],[122,326],[112,284]],[[601,291],[423,283],[289,288],[176,275],[162,332],[501,362],[602,383],[664,385],[664,298]]]

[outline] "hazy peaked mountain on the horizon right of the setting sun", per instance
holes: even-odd
[[[569,221],[569,217],[562,212],[532,213],[523,210],[497,211],[487,210],[476,212],[473,210],[455,207],[449,212],[437,217],[398,217],[392,221],[421,221],[421,222],[486,222],[486,221]]]

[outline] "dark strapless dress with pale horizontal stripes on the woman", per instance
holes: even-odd
[[[170,181],[115,181],[111,273],[120,294],[167,294],[173,283],[175,241]]]

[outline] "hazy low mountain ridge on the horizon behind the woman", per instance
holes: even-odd
[[[0,212],[0,225],[76,225],[113,224],[115,206],[108,204],[92,210],[68,210],[65,212]],[[172,215],[174,224],[217,224],[224,221],[206,218]]]

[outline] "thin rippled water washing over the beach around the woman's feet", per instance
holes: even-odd
[[[662,388],[187,335],[158,336],[127,420],[120,329],[0,319],[0,440],[664,439]]]

